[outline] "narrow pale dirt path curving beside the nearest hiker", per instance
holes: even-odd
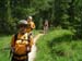
[[[33,47],[32,47],[32,52],[30,52],[30,54],[28,54],[28,61],[34,61],[34,59],[35,59],[35,57],[36,57],[36,50],[37,50],[37,48],[36,48],[36,41],[37,41],[37,39],[42,36],[42,35],[44,35],[44,34],[38,34],[38,35],[36,35],[35,36],[35,38],[34,38],[34,45],[33,45]]]

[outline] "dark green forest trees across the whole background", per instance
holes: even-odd
[[[74,29],[82,37],[82,0],[0,0],[0,33],[16,32],[16,23],[28,15],[36,28],[48,20],[49,26]]]

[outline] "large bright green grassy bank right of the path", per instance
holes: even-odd
[[[72,35],[70,30],[56,29],[42,36],[35,61],[82,61],[82,40]]]

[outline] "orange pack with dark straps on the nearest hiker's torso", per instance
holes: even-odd
[[[27,36],[27,38],[30,38]],[[14,52],[15,54],[26,54],[31,51],[30,39],[17,39],[17,34],[14,35]]]

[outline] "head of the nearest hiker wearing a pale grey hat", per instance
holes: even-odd
[[[27,22],[25,20],[21,20],[19,22],[20,33],[25,34],[27,29]]]

